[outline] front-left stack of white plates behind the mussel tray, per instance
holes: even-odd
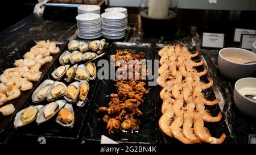
[[[101,36],[101,16],[81,14],[76,16],[78,35],[82,39],[96,39]]]

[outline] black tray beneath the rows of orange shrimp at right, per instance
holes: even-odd
[[[158,51],[160,49],[162,49],[163,47],[164,47],[163,44],[156,45],[156,47],[155,47],[155,59],[156,60],[159,60],[160,57],[158,55]],[[188,49],[190,49],[190,47],[188,47]],[[200,55],[200,51],[199,51],[199,56],[193,58],[192,60],[199,61],[201,58],[202,58],[202,56]],[[205,67],[203,65],[196,67],[198,72],[202,72],[204,70],[204,68]],[[207,74],[200,77],[200,80],[208,83],[208,77],[212,77],[214,85],[217,85],[217,83],[216,83],[217,81],[214,79],[214,76],[212,74],[213,73],[210,73],[210,69],[209,69]],[[158,103],[156,108],[157,108],[158,120],[162,116],[161,107],[162,107],[163,100],[159,96],[159,93],[161,90],[162,90],[162,87],[160,87],[159,85],[156,86],[156,103]],[[212,87],[210,87],[207,90],[204,90],[203,93],[207,94],[208,100],[216,99],[216,96],[213,92]],[[213,116],[217,116],[218,112],[221,111],[220,106],[218,104],[216,104],[214,106],[205,105],[205,109],[209,110],[210,114],[212,114]],[[225,122],[225,115],[222,114],[222,119],[220,120],[220,122],[205,123],[204,127],[207,127],[209,129],[209,131],[213,137],[218,138],[221,136],[222,133],[225,133],[226,139],[225,139],[224,143],[225,144],[233,143],[233,139],[230,136],[228,126],[226,125],[226,122]],[[160,144],[180,144],[180,141],[167,136],[159,129],[159,143]]]

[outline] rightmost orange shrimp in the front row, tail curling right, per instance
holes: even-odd
[[[195,131],[195,135],[199,137],[201,141],[204,141],[206,143],[211,143],[211,144],[221,144],[226,139],[225,133],[222,133],[220,139],[210,136],[209,133],[205,131],[204,120],[203,118],[201,118],[201,115],[199,112],[196,112],[193,120],[194,120],[193,127]]]

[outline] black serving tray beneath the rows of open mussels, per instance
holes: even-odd
[[[78,41],[81,41],[81,40],[78,40]],[[65,50],[68,50],[68,49],[65,48]],[[108,44],[106,44],[104,52],[108,52]],[[79,62],[78,65],[80,65],[80,64],[85,64],[85,62],[84,61]],[[70,64],[70,65],[73,66],[72,64]],[[46,79],[52,79],[53,81],[55,81],[55,79],[53,79],[51,77],[51,73],[59,66],[61,66],[61,64],[60,64],[59,58],[58,58],[58,60],[55,62],[55,64],[49,70],[47,76],[44,77],[42,82]],[[66,81],[64,81],[64,78],[61,79],[61,82],[65,83],[65,85],[67,85],[67,86],[74,81],[75,80],[72,80],[71,82],[66,82]],[[37,125],[35,121],[24,126],[24,127],[18,128],[18,129],[15,129],[14,126],[11,125],[11,127],[9,128],[7,133],[9,133],[11,135],[18,135],[18,136],[20,136],[20,135],[36,136],[36,137],[43,136],[43,137],[49,137],[49,138],[55,138],[55,139],[59,138],[59,139],[69,139],[69,140],[79,139],[83,124],[85,122],[86,116],[88,114],[88,110],[90,108],[90,102],[92,101],[92,99],[94,97],[94,93],[97,88],[97,81],[98,81],[98,78],[96,78],[95,80],[89,81],[90,89],[89,89],[88,98],[85,101],[86,103],[85,103],[84,107],[78,107],[78,106],[76,106],[76,104],[73,104],[73,109],[75,112],[75,125],[73,126],[73,128],[62,127],[61,125],[59,125],[55,122],[56,116],[53,116],[53,118],[51,120],[48,120],[46,123],[43,123],[42,125]],[[32,97],[32,95],[31,95],[31,97]],[[47,100],[44,100],[43,102],[40,102],[40,103],[33,103],[31,97],[30,97],[30,99],[28,99],[28,101],[26,103],[26,107],[28,107],[30,105],[39,105],[39,104],[45,105],[45,104],[49,103],[49,102],[47,102]],[[63,99],[63,98],[60,98],[60,99]]]

